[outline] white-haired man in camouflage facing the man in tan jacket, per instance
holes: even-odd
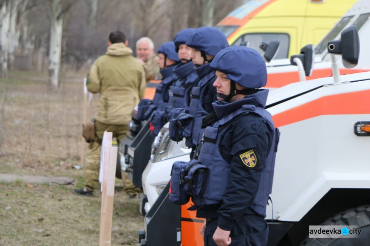
[[[147,83],[160,76],[156,62],[158,57],[154,53],[154,44],[150,38],[142,37],[136,42],[136,55],[144,67]]]

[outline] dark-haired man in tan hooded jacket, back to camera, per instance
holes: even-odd
[[[107,53],[99,57],[91,66],[86,82],[87,90],[100,93],[95,118],[96,140],[89,146],[86,154],[84,188],[75,189],[80,195],[91,196],[99,185],[101,141],[104,131],[113,133],[121,140],[128,130],[131,112],[146,88],[145,72],[142,65],[132,56],[126,36],[121,31],[109,35]],[[126,192],[138,192],[132,184]],[[132,191],[132,192],[130,192]]]

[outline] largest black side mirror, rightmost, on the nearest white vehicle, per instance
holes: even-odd
[[[340,33],[340,40],[328,42],[330,54],[342,55],[344,67],[352,68],[359,62],[360,39],[356,26],[350,26]]]

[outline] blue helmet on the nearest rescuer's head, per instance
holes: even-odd
[[[256,50],[248,47],[230,46],[223,49],[213,59],[211,67],[244,88],[260,88],[267,82],[265,61]]]

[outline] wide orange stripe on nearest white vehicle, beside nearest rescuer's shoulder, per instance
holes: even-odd
[[[370,90],[324,96],[272,116],[276,127],[321,115],[370,114]]]

